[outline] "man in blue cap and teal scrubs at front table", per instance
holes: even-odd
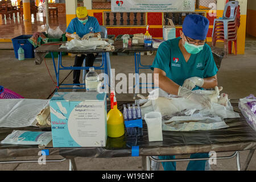
[[[151,69],[159,75],[159,88],[167,93],[211,107],[208,97],[193,93],[195,89],[217,86],[218,69],[212,51],[206,44],[209,20],[201,15],[185,17],[180,37],[160,44]],[[208,158],[205,154],[192,154],[191,158]],[[159,156],[159,159],[175,159],[175,156]],[[206,160],[189,162],[187,170],[204,171]],[[176,170],[175,162],[163,162],[164,170]]]

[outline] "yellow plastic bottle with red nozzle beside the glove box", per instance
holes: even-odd
[[[107,114],[108,136],[112,138],[121,137],[125,134],[125,123],[123,114],[117,109],[117,100],[114,91],[110,93],[111,109]]]

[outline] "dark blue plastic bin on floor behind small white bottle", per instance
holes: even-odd
[[[34,58],[34,46],[28,42],[27,39],[31,38],[32,35],[20,35],[16,38],[11,39],[13,42],[13,48],[16,59],[18,59],[18,49],[21,46],[24,49],[25,59]]]

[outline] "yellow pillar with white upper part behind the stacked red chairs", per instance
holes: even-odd
[[[240,5],[240,27],[237,31],[237,53],[245,53],[247,0],[236,0]],[[217,0],[217,18],[222,17],[226,0]],[[233,46],[234,47],[234,46]],[[233,49],[234,52],[234,49]]]

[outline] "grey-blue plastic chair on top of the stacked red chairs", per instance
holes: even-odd
[[[217,22],[223,22],[224,38],[228,39],[228,23],[229,22],[234,22],[234,20],[236,19],[237,11],[235,11],[235,10],[237,10],[238,5],[239,5],[238,1],[229,1],[228,3],[226,3],[224,13],[223,13],[222,17],[214,19],[212,37],[213,37],[213,34],[214,34],[215,23],[217,21]],[[226,11],[228,10],[229,6],[230,6],[230,16],[226,17]]]

